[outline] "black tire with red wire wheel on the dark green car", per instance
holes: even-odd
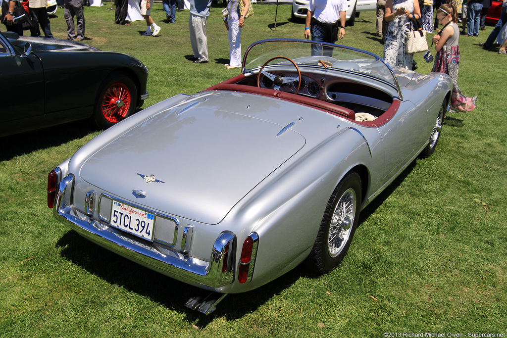
[[[99,88],[93,119],[99,128],[107,129],[134,114],[137,89],[124,73],[112,73]]]

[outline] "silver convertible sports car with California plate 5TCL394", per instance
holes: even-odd
[[[187,304],[209,313],[305,260],[337,267],[361,209],[433,153],[451,91],[446,74],[365,51],[260,41],[239,76],[144,109],[58,165],[48,206],[85,238],[212,291]]]

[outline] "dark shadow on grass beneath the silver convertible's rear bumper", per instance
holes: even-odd
[[[275,281],[255,290],[227,295],[216,310],[206,316],[185,307],[187,301],[195,296],[204,296],[209,291],[188,285],[160,273],[144,268],[127,258],[110,252],[79,236],[74,231],[65,233],[56,243],[60,255],[80,266],[89,273],[110,283],[119,285],[153,302],[185,314],[185,320],[199,328],[205,327],[216,317],[234,320],[257,310],[277,293],[290,287],[302,274],[294,269]]]

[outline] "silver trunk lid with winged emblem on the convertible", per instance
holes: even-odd
[[[82,165],[80,176],[151,210],[219,223],[305,144],[291,129],[277,136],[285,126],[224,106],[191,103],[164,111],[101,148]],[[157,181],[147,182],[150,175]]]

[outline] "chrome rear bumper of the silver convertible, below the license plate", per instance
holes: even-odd
[[[68,175],[59,184],[53,215],[70,229],[98,245],[138,264],[180,281],[216,291],[234,280],[232,255],[235,236],[223,232],[216,239],[209,262],[183,253],[159,251],[151,242],[142,243],[112,229],[107,223],[93,219],[71,205],[74,177]],[[224,266],[225,264],[225,266]]]

